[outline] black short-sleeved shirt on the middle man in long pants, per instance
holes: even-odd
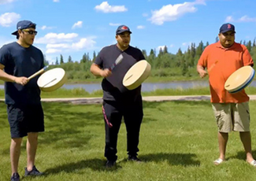
[[[95,64],[102,69],[109,68],[122,54],[124,59],[113,68],[112,75],[102,79],[103,99],[109,101],[135,102],[141,98],[141,86],[128,90],[123,85],[123,79],[132,65],[137,61],[145,60],[141,50],[129,46],[127,50],[120,50],[117,45],[104,47],[95,59]]]

